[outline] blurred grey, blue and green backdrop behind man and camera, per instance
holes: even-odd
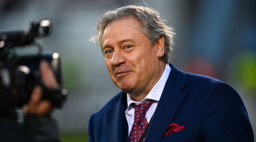
[[[171,62],[204,74],[241,95],[256,136],[256,1],[145,0],[175,28]],[[88,39],[99,18],[137,0],[0,0],[0,31],[28,30],[31,21],[50,20],[53,33],[39,39],[44,53],[58,52],[64,86],[62,110],[55,110],[64,142],[87,141],[88,120],[120,90],[110,79],[100,47]],[[34,52],[31,49],[22,53]]]

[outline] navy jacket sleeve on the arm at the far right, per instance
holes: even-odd
[[[202,110],[201,131],[204,142],[253,142],[253,130],[238,93],[217,82],[209,89]]]

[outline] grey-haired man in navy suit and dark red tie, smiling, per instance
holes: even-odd
[[[224,82],[169,63],[174,33],[154,9],[125,6],[97,26],[109,75],[122,92],[89,121],[90,142],[253,142],[245,106]]]

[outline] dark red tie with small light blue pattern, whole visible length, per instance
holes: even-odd
[[[148,121],[145,117],[149,107],[154,100],[149,100],[143,104],[133,104],[134,106],[134,122],[131,127],[129,139],[131,142],[138,142],[144,130],[148,126]],[[143,141],[145,138],[143,139]]]

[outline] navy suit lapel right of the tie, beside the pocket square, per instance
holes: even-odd
[[[184,72],[173,64],[170,64],[170,66],[172,68],[171,73],[155,109],[145,142],[156,142],[162,138],[183,99],[186,97],[186,93],[180,92],[186,86]]]

